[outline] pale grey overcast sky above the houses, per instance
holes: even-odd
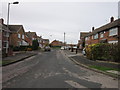
[[[98,28],[109,23],[111,16],[118,18],[118,0],[113,0],[114,2],[18,1],[18,5],[10,5],[9,23],[22,24],[25,31],[34,31],[51,41],[54,39],[63,41],[65,32],[67,43],[77,43],[80,32],[89,32],[93,26]],[[3,18],[5,23],[7,4],[7,0],[2,2],[2,12],[0,12],[0,18]]]

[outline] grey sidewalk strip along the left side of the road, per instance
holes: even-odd
[[[15,55],[2,58],[2,66],[7,66],[18,61],[22,61],[31,56],[37,55],[39,51],[16,52]]]

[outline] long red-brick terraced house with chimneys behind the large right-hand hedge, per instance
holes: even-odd
[[[114,21],[111,17],[110,23],[96,29],[93,27],[85,36],[85,45],[95,43],[120,43],[120,19]]]

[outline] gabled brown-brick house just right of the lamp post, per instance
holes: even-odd
[[[15,46],[27,46],[28,42],[25,40],[25,31],[23,25],[9,25],[11,34],[11,43]]]

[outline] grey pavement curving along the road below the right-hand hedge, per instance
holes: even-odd
[[[96,66],[100,66],[100,67],[108,67],[108,68],[114,68],[114,69],[118,69],[119,64],[118,63],[111,63],[111,62],[106,62],[106,61],[92,61],[86,58],[86,56],[84,56],[82,53],[75,53],[75,52],[71,52],[69,50],[64,50],[64,53],[67,57],[69,57],[73,62],[75,62],[77,65],[83,66],[87,69],[99,72],[99,73],[103,73],[106,75],[109,75],[111,77],[115,77],[115,78],[119,78],[120,76],[120,72],[119,71],[115,71],[115,70],[108,70],[108,71],[101,71],[98,69],[94,69],[94,68],[90,68],[90,65],[96,65]]]

